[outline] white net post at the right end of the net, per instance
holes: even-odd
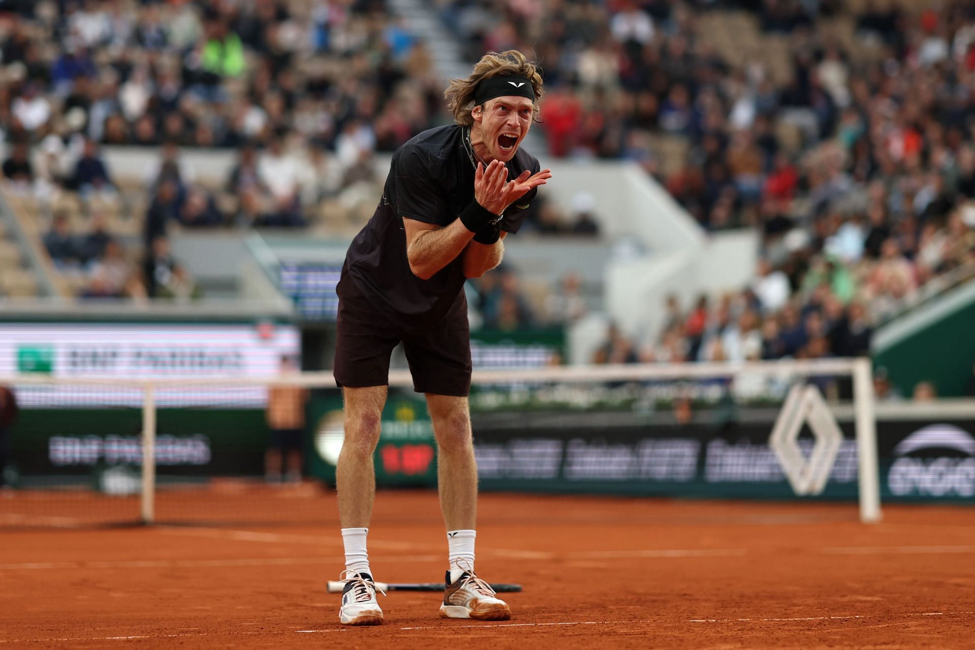
[[[869,358],[853,361],[853,409],[860,477],[860,520],[880,520],[880,476],[877,419],[874,412],[873,366]]]

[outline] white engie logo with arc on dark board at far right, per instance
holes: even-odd
[[[975,439],[950,424],[933,424],[901,440],[887,485],[896,496],[975,495]]]

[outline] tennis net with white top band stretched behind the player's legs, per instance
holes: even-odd
[[[858,499],[877,520],[870,372],[868,360],[476,370],[482,488],[783,496],[791,485]],[[321,522],[343,436],[331,373],[0,385],[17,402],[0,434],[0,526]],[[390,385],[377,480],[431,486],[424,404],[408,372]],[[831,424],[834,412],[849,422]],[[743,414],[751,428],[729,425]],[[711,480],[735,473],[767,480],[751,495]]]

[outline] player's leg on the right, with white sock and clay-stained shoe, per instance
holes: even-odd
[[[450,568],[440,615],[505,621],[511,618],[507,603],[474,573],[478,466],[467,398],[428,393],[427,406],[437,439],[437,480],[449,547]]]

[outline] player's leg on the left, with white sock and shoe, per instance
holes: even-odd
[[[338,518],[345,545],[345,591],[339,620],[342,625],[379,625],[382,610],[375,599],[375,586],[366,552],[366,534],[375,499],[375,470],[372,454],[379,442],[386,387],[346,388],[345,440],[335,467]]]

